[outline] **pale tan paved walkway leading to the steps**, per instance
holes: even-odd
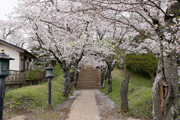
[[[67,120],[98,120],[94,90],[83,90],[71,106]]]

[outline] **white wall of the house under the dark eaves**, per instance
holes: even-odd
[[[0,44],[0,50],[4,49],[5,54],[9,55],[10,57],[14,58],[15,60],[10,61],[10,70],[17,70],[20,71],[20,55],[15,49]]]

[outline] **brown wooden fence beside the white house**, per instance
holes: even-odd
[[[28,85],[35,85],[47,81],[45,78],[45,72],[36,71],[35,78],[33,80],[27,79],[29,71],[20,72],[11,70],[11,75],[6,77],[5,84],[6,89],[19,88]]]

